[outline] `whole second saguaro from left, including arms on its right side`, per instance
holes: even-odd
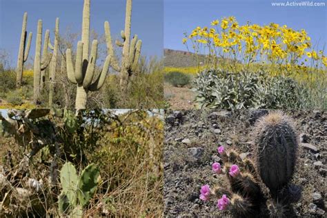
[[[48,68],[51,61],[52,53],[48,52],[48,43],[50,37],[50,30],[46,30],[43,45],[43,54],[41,57],[41,46],[42,46],[42,20],[37,23],[37,43],[35,46],[35,57],[34,57],[34,103],[39,103],[39,95],[41,92],[41,83],[43,83],[43,78],[41,78],[41,71],[43,73],[46,68]],[[42,80],[42,81],[41,81]]]

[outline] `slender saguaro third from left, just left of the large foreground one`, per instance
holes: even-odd
[[[56,70],[57,70],[57,57],[58,57],[58,45],[59,45],[58,39],[59,39],[59,18],[56,19],[53,46],[49,42],[49,47],[53,51],[51,62],[50,62],[50,75],[49,75],[49,106],[50,107],[52,106],[54,81],[55,81]]]

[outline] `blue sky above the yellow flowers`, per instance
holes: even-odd
[[[325,2],[326,6],[320,7],[273,7],[272,2],[287,1],[165,0],[164,48],[187,50],[181,43],[184,32],[190,33],[197,26],[209,26],[211,21],[229,16],[236,17],[240,25],[246,21],[261,25],[274,22],[295,30],[303,28],[311,37],[313,45],[319,42],[319,48],[322,48],[326,44],[327,1],[315,0],[314,2]]]

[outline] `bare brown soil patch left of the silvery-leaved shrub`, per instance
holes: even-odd
[[[195,93],[188,87],[174,87],[169,83],[164,85],[164,95],[172,110],[191,110],[197,108]]]

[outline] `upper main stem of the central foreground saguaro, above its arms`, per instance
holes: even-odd
[[[84,0],[81,41],[83,42],[83,59],[87,60],[90,43],[90,0]]]

